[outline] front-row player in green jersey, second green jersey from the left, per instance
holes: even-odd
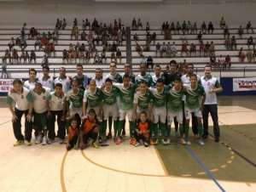
[[[84,100],[83,100],[83,114],[84,118],[88,118],[88,112],[90,109],[96,111],[98,125],[101,127],[99,130],[99,144],[102,144],[102,138],[106,140],[106,135],[102,135],[102,91],[100,88],[96,88],[96,80],[91,79],[89,83],[89,89],[84,91]]]

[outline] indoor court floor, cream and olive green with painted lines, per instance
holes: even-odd
[[[221,142],[207,138],[203,147],[191,130],[190,146],[172,131],[172,144],[148,148],[127,136],[97,150],[67,152],[58,139],[14,147],[4,99],[0,107],[0,191],[256,191],[255,97],[219,97]]]

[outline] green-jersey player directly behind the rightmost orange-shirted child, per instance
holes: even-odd
[[[154,120],[152,116],[152,93],[150,91],[146,91],[147,86],[146,86],[146,81],[142,80],[141,84],[139,85],[140,90],[137,91],[134,94],[134,112],[133,112],[133,121],[136,123],[136,120],[140,119],[140,114],[141,112],[145,112],[147,114],[147,119],[151,121],[149,129],[149,143],[154,144],[153,139],[152,139],[152,133],[154,131]]]

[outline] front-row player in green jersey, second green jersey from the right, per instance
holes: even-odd
[[[179,123],[179,133],[183,133],[183,94],[184,90],[181,86],[181,78],[179,76],[174,77],[174,87],[167,93],[167,144],[171,143],[170,133],[172,126],[172,119],[176,117]],[[183,138],[180,139],[180,143],[186,144]]]

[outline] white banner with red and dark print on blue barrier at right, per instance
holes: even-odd
[[[256,77],[251,78],[233,78],[233,91],[255,91]]]

